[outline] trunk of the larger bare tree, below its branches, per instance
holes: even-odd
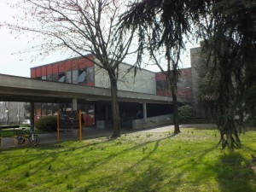
[[[112,105],[112,120],[113,120],[113,135],[112,137],[120,137],[120,118],[119,118],[119,102],[118,102],[118,87],[117,80],[110,76],[111,82],[111,105]]]

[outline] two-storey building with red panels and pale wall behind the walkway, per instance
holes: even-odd
[[[95,60],[93,55],[88,56],[90,60]],[[108,74],[90,60],[76,57],[32,67],[31,78],[109,89]],[[178,82],[178,101],[181,105],[184,103],[190,104],[192,102],[191,68],[182,69],[180,79]],[[118,88],[123,91],[148,94],[148,96],[170,96],[166,87],[166,76],[163,73],[141,69],[137,70],[137,75],[134,76],[132,66],[126,63],[119,65]],[[146,107],[144,104],[141,102],[119,102],[122,127],[131,127],[132,120],[137,118],[138,111],[147,113],[147,118],[172,115],[172,103],[148,102]],[[60,108],[61,110],[71,110],[71,105],[72,103],[36,103],[35,119],[55,114]],[[111,126],[110,101],[99,99],[79,100],[78,109],[84,113],[84,125],[91,126],[104,121],[104,127]]]

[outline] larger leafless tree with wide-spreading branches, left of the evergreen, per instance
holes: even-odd
[[[32,47],[39,55],[71,50],[106,70],[111,84],[113,137],[120,136],[118,66],[129,54],[133,38],[133,30],[124,32],[118,26],[125,7],[122,0],[23,0],[15,4],[24,13],[19,24],[8,24],[16,32],[32,32],[35,40],[43,39]]]

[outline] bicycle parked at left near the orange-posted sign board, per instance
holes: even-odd
[[[30,126],[29,132],[26,131],[26,128],[22,128],[22,131],[18,131],[15,137],[16,146],[27,144],[31,147],[37,146],[40,139],[34,131],[34,127]]]

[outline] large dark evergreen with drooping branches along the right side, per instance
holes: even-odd
[[[216,88],[215,114],[223,148],[241,146],[243,114],[255,111],[255,13],[256,2],[252,0],[143,0],[132,4],[123,16],[126,27],[136,26],[138,30],[138,65],[148,48],[145,44],[150,43],[150,50],[165,47],[166,59],[172,63],[169,72],[174,73],[169,77],[174,87],[185,37],[205,40],[210,73],[215,76],[214,83],[210,76],[207,79]],[[239,121],[235,120],[237,114]]]

